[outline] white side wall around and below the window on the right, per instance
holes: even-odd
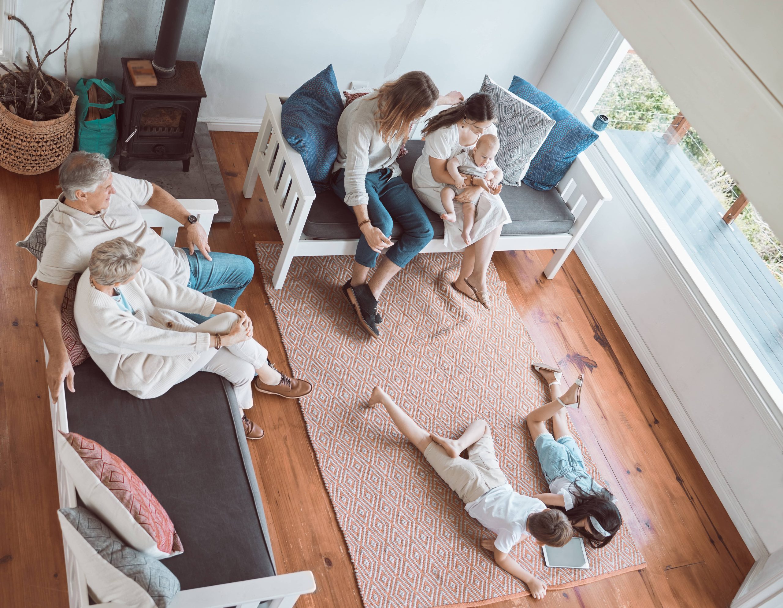
[[[594,0],[583,0],[540,87],[575,104],[604,56],[602,45],[615,34]],[[586,154],[601,171],[597,147]],[[763,542],[761,552],[764,547],[774,552],[783,546],[778,442],[680,289],[683,283],[673,278],[662,248],[651,243],[637,207],[619,182],[604,181],[614,200],[604,204],[586,231],[579,257],[749,548]]]

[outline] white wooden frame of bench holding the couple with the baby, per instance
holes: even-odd
[[[358,239],[311,239],[302,233],[316,191],[301,156],[283,138],[280,112],[286,99],[278,95],[266,95],[266,111],[243,188],[244,197],[251,198],[256,180],[261,178],[266,200],[283,240],[283,250],[272,275],[275,289],[283,286],[294,257],[352,255],[358,243]],[[501,236],[497,245],[497,250],[502,251],[556,250],[544,271],[547,279],[553,279],[557,274],[601,204],[605,200],[612,200],[604,182],[584,155],[576,158],[557,185],[557,191],[575,218],[570,231],[562,234]],[[441,238],[432,239],[423,252],[445,250]]]

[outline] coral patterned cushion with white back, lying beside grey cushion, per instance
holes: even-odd
[[[136,551],[157,559],[182,552],[166,509],[119,456],[80,434],[60,435],[60,459],[88,509]]]

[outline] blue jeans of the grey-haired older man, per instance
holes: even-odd
[[[228,304],[233,308],[237,298],[250,285],[255,272],[255,264],[244,255],[222,254],[212,251],[208,261],[199,250],[193,255],[187,252],[190,264],[190,289],[201,293],[212,293],[212,297],[222,304]],[[183,313],[185,314],[185,313]],[[201,315],[185,314],[187,318],[198,323],[203,323],[207,317]]]

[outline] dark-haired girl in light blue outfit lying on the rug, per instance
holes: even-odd
[[[608,545],[622,524],[622,516],[612,494],[587,474],[579,446],[568,431],[565,408],[579,408],[583,376],[563,392],[561,369],[535,363],[532,368],[549,383],[552,401],[528,414],[530,437],[536,444],[541,469],[551,494],[539,494],[550,506],[562,507],[572,525],[596,549]],[[552,419],[554,436],[544,424]]]

